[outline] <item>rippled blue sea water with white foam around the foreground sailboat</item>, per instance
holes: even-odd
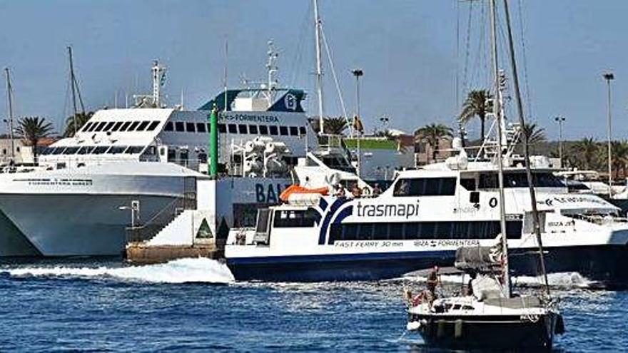
[[[0,350],[425,351],[405,332],[402,300],[402,290],[422,280],[250,283],[207,259],[5,260]],[[515,281],[529,287],[538,279]],[[628,292],[592,290],[577,274],[550,282],[567,328],[557,350],[628,349]]]

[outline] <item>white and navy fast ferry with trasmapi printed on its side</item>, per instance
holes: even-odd
[[[512,162],[512,159],[505,158]],[[597,195],[569,194],[536,158],[535,190],[548,272],[626,280],[628,224]],[[302,180],[302,179],[301,179]],[[397,174],[376,197],[295,195],[259,210],[255,229],[232,229],[225,255],[238,280],[378,280],[449,266],[461,246],[489,246],[500,233],[497,167],[464,152]],[[525,168],[505,169],[510,265],[537,275]]]

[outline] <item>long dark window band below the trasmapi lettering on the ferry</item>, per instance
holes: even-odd
[[[520,220],[506,222],[508,239],[520,239]],[[335,240],[494,239],[500,234],[497,220],[450,222],[341,223],[330,227]]]

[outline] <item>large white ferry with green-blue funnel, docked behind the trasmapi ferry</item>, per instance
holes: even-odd
[[[253,224],[258,205],[276,203],[292,183],[298,158],[319,150],[301,106],[305,93],[279,88],[272,76],[263,88],[231,89],[186,111],[163,107],[165,68],[152,70],[152,96],[97,111],[44,150],[37,168],[0,174],[0,255],[121,255],[129,225],[154,235],[196,207],[197,182],[208,179],[214,106],[223,177],[208,220],[214,235],[221,223]]]

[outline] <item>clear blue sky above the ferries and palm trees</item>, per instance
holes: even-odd
[[[408,132],[428,123],[453,127],[466,92],[490,85],[486,1],[319,2],[350,115],[356,101],[350,71],[364,71],[360,111],[367,131],[381,128],[383,116],[390,127]],[[558,138],[555,116],[567,119],[565,139],[606,138],[602,73],[612,70],[613,136],[628,139],[628,125],[622,123],[628,118],[628,1],[509,4],[527,118],[552,139]],[[498,56],[507,67],[504,17],[498,17]],[[179,103],[183,96],[186,108],[196,108],[221,91],[225,66],[228,86],[240,86],[243,78],[263,81],[270,39],[280,53],[280,83],[308,91],[305,106],[316,114],[308,0],[0,0],[0,66],[11,70],[16,116],[44,116],[57,131],[71,112],[69,45],[90,110],[113,106],[116,92],[118,106],[125,94],[149,93],[154,59],[168,67],[168,102]],[[325,115],[340,116],[327,53],[324,57]],[[6,93],[0,92],[4,117]],[[509,116],[515,118],[514,110]],[[477,135],[477,123],[468,131]]]

